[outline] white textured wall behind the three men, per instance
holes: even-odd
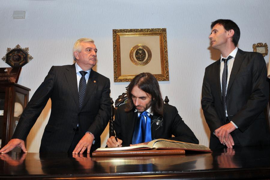
[[[243,50],[252,51],[254,43],[270,44],[268,0],[0,0],[0,4],[0,58],[7,47],[17,44],[29,47],[34,58],[22,68],[18,82],[31,88],[29,98],[52,65],[73,64],[74,42],[88,37],[98,48],[96,70],[110,78],[115,101],[129,83],[113,82],[112,29],[167,28],[170,81],[159,82],[161,92],[206,146],[210,132],[200,105],[202,80],[205,67],[219,58],[210,48],[211,22],[235,21]],[[13,19],[14,10],[26,11],[26,18]],[[0,67],[8,65],[0,61]],[[50,101],[28,136],[29,152],[38,152],[49,113]],[[107,137],[108,129],[102,146]]]

